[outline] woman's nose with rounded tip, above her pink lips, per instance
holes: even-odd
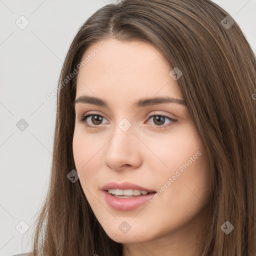
[[[105,147],[103,163],[114,170],[137,168],[141,164],[141,141],[132,126],[124,131],[118,126],[113,130]]]

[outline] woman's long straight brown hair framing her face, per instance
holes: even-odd
[[[110,36],[154,45],[182,71],[177,81],[214,184],[201,255],[255,255],[256,59],[237,23],[210,0],[123,0],[98,9],[80,27],[58,81],[50,185],[30,255],[122,255],[122,244],[100,226],[79,179],[67,178],[75,169],[76,75],[63,81],[88,46]],[[220,228],[225,221],[234,226],[229,234]]]

